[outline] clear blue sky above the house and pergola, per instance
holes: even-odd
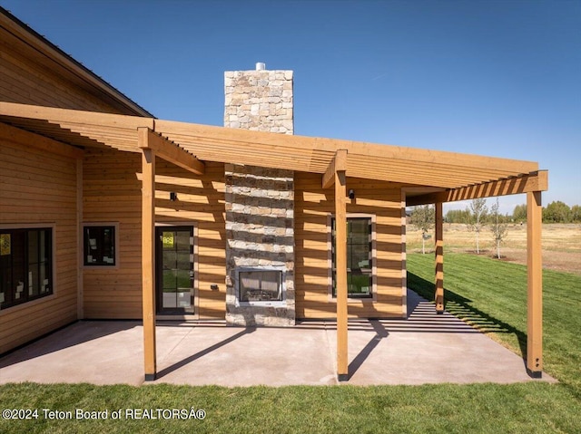
[[[580,0],[0,5],[158,118],[222,125],[223,72],[264,62],[296,134],[534,160],[581,205]]]

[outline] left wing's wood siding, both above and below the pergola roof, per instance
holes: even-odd
[[[0,101],[136,114],[2,26]],[[77,174],[75,158],[66,157],[70,147],[1,125],[0,224],[52,222],[56,274],[54,295],[0,312],[0,353],[82,314],[82,299],[77,296],[81,286],[77,264],[81,182],[77,175],[82,177],[81,169]],[[33,146],[41,142],[42,147]],[[55,154],[53,148],[64,152]]]

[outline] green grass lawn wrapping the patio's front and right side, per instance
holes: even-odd
[[[447,254],[447,308],[516,352],[526,344],[526,269]],[[433,256],[408,256],[409,286],[431,298]],[[545,369],[559,384],[236,388],[8,384],[0,432],[547,433],[581,432],[581,277],[545,275]],[[413,369],[429,369],[417,366]],[[478,366],[475,366],[478,369]],[[124,409],[203,409],[204,420],[132,420]],[[47,420],[42,409],[107,410],[106,420]],[[112,412],[123,409],[121,420]]]

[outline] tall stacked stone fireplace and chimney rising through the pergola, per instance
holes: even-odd
[[[224,73],[224,126],[293,133],[292,71]],[[240,164],[225,168],[226,321],[295,323],[294,173]]]

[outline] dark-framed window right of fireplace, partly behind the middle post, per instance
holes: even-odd
[[[371,217],[347,217],[347,294],[350,298],[373,297],[373,246]],[[332,294],[337,296],[335,218],[331,219]]]

